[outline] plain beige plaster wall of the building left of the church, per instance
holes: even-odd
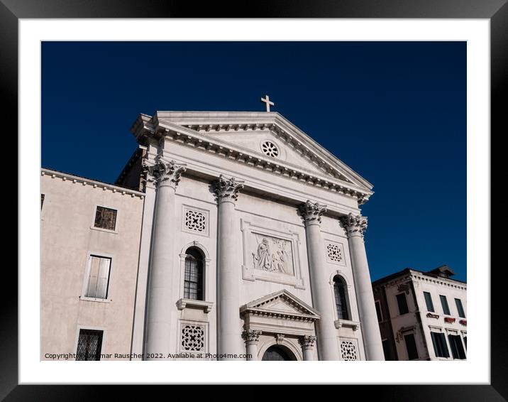
[[[101,353],[111,359],[131,352],[143,195],[122,191],[43,170],[41,359],[75,353],[81,327],[104,330]],[[94,228],[97,205],[118,210],[115,232]],[[82,298],[90,254],[111,257],[107,301]]]

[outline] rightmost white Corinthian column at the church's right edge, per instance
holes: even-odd
[[[341,217],[341,222],[348,233],[349,253],[351,264],[353,264],[353,277],[355,279],[365,354],[368,360],[385,360],[380,327],[377,323],[372,283],[370,283],[367,254],[363,243],[363,233],[367,229],[367,219],[360,215],[348,214],[346,217]]]

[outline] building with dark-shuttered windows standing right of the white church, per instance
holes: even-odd
[[[372,283],[386,360],[465,359],[467,284],[443,265]]]

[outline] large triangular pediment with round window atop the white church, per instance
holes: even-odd
[[[278,113],[157,112],[153,120],[166,130],[179,130],[183,136],[196,134],[200,141],[214,141],[318,181],[344,183],[360,192],[372,189],[367,180]],[[275,146],[276,155],[267,153],[266,143]]]

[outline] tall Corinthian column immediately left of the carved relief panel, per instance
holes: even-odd
[[[243,182],[235,178],[219,176],[213,184],[219,204],[217,228],[217,319],[220,354],[243,354],[240,325],[240,271],[241,263],[236,261],[236,252],[241,244],[240,233],[236,227],[235,205],[238,191]],[[220,357],[221,360],[234,360]]]

